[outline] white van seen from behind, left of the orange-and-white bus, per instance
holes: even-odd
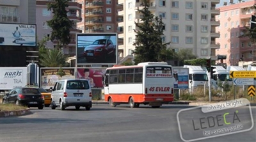
[[[50,90],[52,109],[57,106],[60,106],[61,110],[68,106],[76,106],[76,109],[79,109],[82,106],[89,111],[92,107],[92,90],[86,79],[60,80]]]

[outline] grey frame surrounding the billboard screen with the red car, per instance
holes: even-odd
[[[78,49],[78,42],[77,42],[77,36],[79,35],[115,35],[116,36],[116,61],[115,63],[77,63],[78,61],[78,56],[77,56],[77,49]],[[118,34],[117,33],[76,33],[76,68],[77,65],[116,65],[118,62]]]

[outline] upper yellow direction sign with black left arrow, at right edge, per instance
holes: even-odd
[[[256,71],[230,71],[230,78],[256,78]]]

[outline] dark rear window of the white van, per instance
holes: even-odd
[[[68,90],[88,90],[90,88],[88,81],[68,81]]]

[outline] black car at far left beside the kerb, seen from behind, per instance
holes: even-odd
[[[16,105],[24,105],[28,107],[44,108],[44,96],[38,88],[13,88],[10,93],[3,97],[3,103],[15,103]]]

